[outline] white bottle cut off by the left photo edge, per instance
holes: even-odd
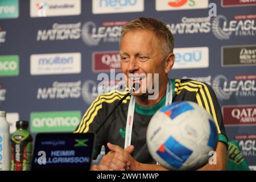
[[[0,111],[0,171],[10,170],[10,125],[6,112]]]

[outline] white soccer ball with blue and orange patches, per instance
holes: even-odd
[[[195,170],[209,160],[218,141],[217,127],[195,102],[179,101],[162,107],[147,128],[152,158],[172,170]],[[210,152],[210,154],[209,154]]]

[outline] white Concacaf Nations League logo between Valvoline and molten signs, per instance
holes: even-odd
[[[100,43],[119,42],[122,26],[127,21],[102,22],[97,26],[94,22],[53,23],[51,28],[38,30],[37,41],[77,40],[82,39],[87,46],[98,46]]]

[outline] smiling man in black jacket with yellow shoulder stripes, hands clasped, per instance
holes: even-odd
[[[97,134],[95,156],[102,145],[107,154],[99,165],[92,167],[93,170],[164,170],[148,151],[146,130],[152,115],[160,107],[175,101],[196,102],[205,107],[216,123],[219,140],[217,164],[206,164],[200,169],[226,168],[228,139],[217,98],[212,88],[203,82],[168,78],[175,61],[173,49],[174,37],[166,24],[159,20],[142,17],[123,27],[121,69],[127,85],[139,82],[141,88],[118,106]],[[85,112],[75,133],[96,131],[126,93],[113,90],[98,96]]]

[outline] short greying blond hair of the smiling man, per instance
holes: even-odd
[[[123,26],[121,40],[127,32],[135,30],[151,30],[156,35],[156,38],[158,38],[159,43],[163,44],[168,53],[174,51],[174,36],[166,26],[166,23],[155,18],[140,17],[134,19]]]

